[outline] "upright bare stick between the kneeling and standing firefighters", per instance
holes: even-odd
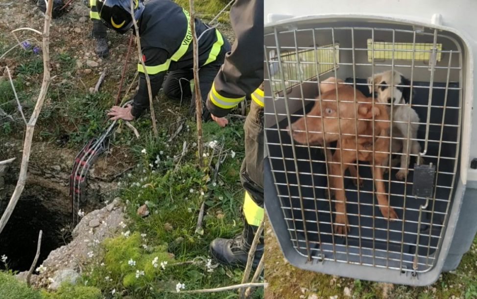
[[[199,86],[199,54],[197,48],[197,35],[195,34],[195,11],[194,0],[189,0],[190,15],[191,15],[191,33],[192,33],[192,46],[194,50],[194,90],[195,90],[195,118],[197,121],[197,149],[199,155],[199,166],[204,165],[202,159],[202,95],[200,94]]]

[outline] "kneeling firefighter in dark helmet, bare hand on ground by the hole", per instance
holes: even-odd
[[[99,18],[108,28],[120,34],[133,27],[130,0],[97,0]],[[191,113],[195,113],[195,99],[191,92],[193,79],[193,47],[187,10],[171,0],[134,0],[133,14],[139,26],[143,61],[149,75],[154,98],[164,83],[167,97],[182,100],[191,97]],[[133,27],[134,28],[134,27]],[[205,101],[230,44],[220,34],[200,20],[195,19],[198,40],[199,78],[202,99]],[[149,108],[149,96],[143,65],[138,64],[139,88],[132,105],[113,106],[108,113],[112,120],[133,120]],[[204,120],[210,119],[205,108]]]

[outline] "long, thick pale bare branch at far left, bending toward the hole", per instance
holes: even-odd
[[[50,73],[49,73],[49,27],[51,23],[51,9],[53,7],[53,0],[48,0],[47,11],[45,14],[45,25],[43,28],[43,82],[42,88],[40,90],[40,94],[38,95],[38,100],[35,105],[35,109],[31,114],[30,120],[26,125],[26,132],[25,132],[25,142],[23,147],[23,157],[22,157],[22,164],[20,167],[20,174],[18,176],[17,185],[15,190],[13,191],[13,195],[8,202],[8,205],[5,209],[5,212],[1,216],[0,219],[0,234],[5,227],[5,224],[10,219],[10,216],[17,205],[18,200],[20,199],[20,195],[23,192],[26,182],[26,172],[28,170],[28,161],[30,159],[30,150],[31,150],[31,142],[33,140],[33,132],[35,130],[35,124],[40,115],[41,109],[43,107],[43,103],[47,96],[48,86],[51,82]]]

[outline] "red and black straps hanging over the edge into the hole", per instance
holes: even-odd
[[[130,104],[132,101],[126,102],[122,107]],[[79,151],[74,158],[72,172],[70,174],[70,197],[72,209],[73,225],[78,224],[80,219],[80,204],[86,200],[85,186],[88,171],[95,163],[97,157],[109,147],[109,137],[113,128],[118,124],[115,120],[99,137],[95,137],[88,141],[86,145]]]

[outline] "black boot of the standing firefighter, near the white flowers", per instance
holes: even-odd
[[[215,239],[210,245],[212,257],[224,265],[245,266],[256,229],[257,226],[246,224],[243,232],[233,239]],[[260,238],[260,242],[255,250],[253,267],[258,266],[262,255],[263,236]]]

